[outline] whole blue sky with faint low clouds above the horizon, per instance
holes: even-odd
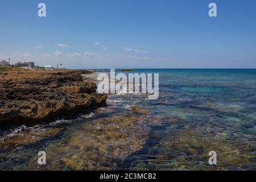
[[[1,0],[0,22],[0,59],[13,63],[256,68],[255,0]]]

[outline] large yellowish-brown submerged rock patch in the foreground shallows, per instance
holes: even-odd
[[[62,164],[72,170],[113,170],[128,155],[143,148],[150,131],[145,126],[147,122],[144,115],[130,114],[86,122],[72,133],[65,145],[51,144],[45,149],[48,160],[58,161],[47,169]]]

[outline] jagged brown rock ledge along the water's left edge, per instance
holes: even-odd
[[[14,71],[0,73],[0,128],[35,125],[106,105],[83,71]]]

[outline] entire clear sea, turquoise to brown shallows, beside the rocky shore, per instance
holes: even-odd
[[[109,95],[93,113],[1,131],[0,169],[256,169],[255,69],[135,72],[159,73],[158,100]],[[37,164],[41,150],[46,166]]]

